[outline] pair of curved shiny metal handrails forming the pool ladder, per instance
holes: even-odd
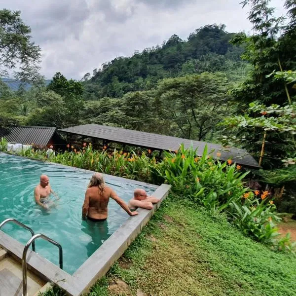
[[[32,233],[32,237],[28,240],[28,242],[25,245],[24,251],[23,251],[23,257],[22,257],[22,269],[23,269],[23,296],[28,296],[28,292],[27,292],[27,252],[32,244],[32,249],[35,252],[35,240],[37,238],[42,238],[50,243],[52,243],[53,245],[57,246],[59,248],[59,259],[60,259],[60,268],[63,269],[63,248],[62,246],[57,243],[56,241],[54,241],[53,239],[49,238],[48,236],[41,234],[41,233],[37,233],[35,234],[35,232],[33,231],[32,228],[28,227],[27,225],[13,219],[13,218],[9,218],[4,220],[3,222],[0,223],[0,228],[7,222],[14,222],[22,227],[24,227],[25,229],[29,230]]]

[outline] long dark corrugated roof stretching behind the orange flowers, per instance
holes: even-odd
[[[223,148],[219,144],[199,142],[99,124],[78,125],[60,129],[59,131],[103,139],[109,142],[161,150],[174,151],[180,147],[180,144],[184,143],[185,148],[188,148],[190,145],[193,145],[194,149],[197,148],[198,155],[202,155],[203,150],[207,145],[208,152],[214,150],[212,152],[214,158],[217,158],[216,153],[220,152],[221,156],[219,158],[222,160],[231,158],[232,161],[235,161],[237,164],[259,168],[258,162],[246,150],[239,148]]]

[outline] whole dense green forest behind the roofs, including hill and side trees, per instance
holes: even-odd
[[[186,40],[173,35],[117,57],[80,81],[57,72],[49,84],[38,75],[30,28],[19,12],[1,10],[0,75],[23,63],[14,78],[32,87],[0,82],[0,126],[97,123],[241,147],[265,169],[256,178],[284,190],[296,180],[296,3],[284,2],[286,18],[276,18],[269,1],[243,5],[253,35],[207,25]],[[13,48],[14,38],[26,46]]]

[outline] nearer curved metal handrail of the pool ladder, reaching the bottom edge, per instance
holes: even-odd
[[[23,258],[22,258],[22,268],[23,268],[23,296],[28,296],[28,292],[27,292],[27,252],[30,248],[30,245],[32,243],[35,242],[35,240],[37,238],[42,238],[50,243],[52,243],[53,245],[57,246],[59,248],[59,255],[60,255],[60,268],[63,269],[63,248],[62,246],[57,243],[56,241],[54,241],[53,239],[49,238],[48,236],[41,234],[41,233],[37,233],[34,236],[32,236],[27,244],[25,245],[24,251],[23,251]]]

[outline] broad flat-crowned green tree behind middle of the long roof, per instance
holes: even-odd
[[[229,108],[227,88],[219,73],[163,79],[157,88],[162,116],[177,124],[183,138],[204,140]]]

